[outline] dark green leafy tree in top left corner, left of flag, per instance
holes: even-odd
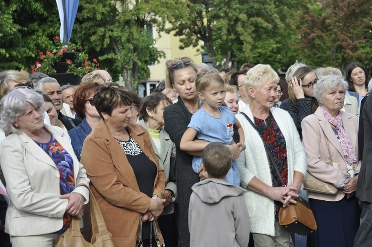
[[[60,19],[55,1],[0,0],[0,67],[28,69],[40,51],[53,48]]]

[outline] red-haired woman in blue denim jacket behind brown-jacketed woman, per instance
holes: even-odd
[[[94,106],[94,93],[99,85],[97,82],[85,82],[76,89],[73,98],[76,115],[83,121],[68,131],[68,134],[71,138],[73,150],[79,160],[85,138],[101,120],[101,116]]]

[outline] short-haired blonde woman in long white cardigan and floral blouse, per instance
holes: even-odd
[[[245,198],[256,247],[289,246],[290,231],[279,225],[278,211],[295,202],[293,197],[298,196],[306,172],[305,152],[291,116],[273,107],[278,81],[270,65],[249,69],[244,86],[251,103],[237,115],[249,140],[238,166],[242,186],[248,189]],[[276,164],[272,164],[264,145]],[[280,180],[287,186],[283,187]]]

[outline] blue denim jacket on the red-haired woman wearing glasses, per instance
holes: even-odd
[[[88,122],[84,118],[81,124],[74,127],[68,134],[71,138],[71,145],[73,147],[73,151],[76,154],[77,159],[80,161],[81,150],[83,149],[83,143],[85,138],[92,132],[92,128],[89,126]]]

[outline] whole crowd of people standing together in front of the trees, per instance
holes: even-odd
[[[4,246],[57,246],[72,217],[90,240],[81,185],[116,247],[136,246],[139,231],[145,247],[372,246],[372,66],[353,62],[344,78],[295,62],[282,80],[268,64],[218,71],[185,56],[165,67],[143,99],[105,70],[62,87],[0,72]],[[307,173],[337,192],[307,192]],[[279,224],[299,195],[317,224],[307,237]]]

